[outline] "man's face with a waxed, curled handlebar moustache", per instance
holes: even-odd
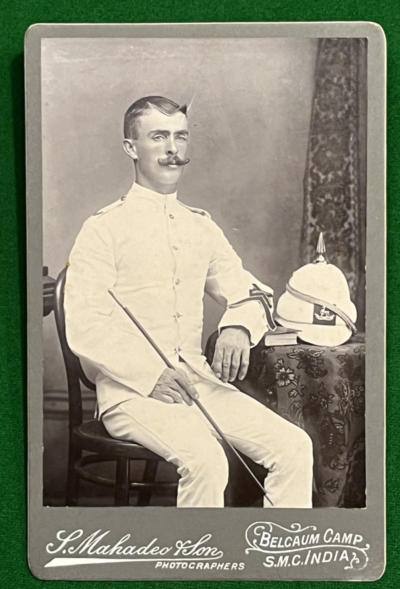
[[[181,161],[186,158],[188,120],[183,112],[165,115],[151,108],[138,118],[136,135],[138,138],[132,140],[136,179],[145,178],[154,186],[176,184],[184,166],[162,162],[175,156]]]

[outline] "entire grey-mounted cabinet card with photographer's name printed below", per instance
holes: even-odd
[[[36,577],[384,573],[385,51],[368,22],[28,29]]]

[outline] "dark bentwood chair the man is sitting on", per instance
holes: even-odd
[[[78,505],[79,482],[85,479],[104,487],[114,487],[114,504],[129,505],[129,491],[139,491],[137,505],[146,506],[153,489],[176,488],[176,482],[155,482],[161,456],[154,454],[139,444],[112,438],[103,423],[98,419],[82,421],[81,383],[91,391],[96,390],[84,373],[81,362],[69,348],[65,336],[64,286],[67,268],[59,274],[54,288],[54,315],[64,357],[66,379],[68,382],[69,404],[69,453],[66,483],[66,505]],[[90,454],[82,455],[83,452]],[[131,461],[145,461],[142,481],[131,481],[129,477]],[[85,468],[99,462],[116,462],[115,479],[102,477]]]

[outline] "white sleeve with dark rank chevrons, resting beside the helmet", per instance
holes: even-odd
[[[250,334],[251,345],[255,346],[268,330],[276,327],[272,317],[274,291],[243,269],[241,259],[224,233],[213,221],[210,222],[215,247],[205,291],[226,307],[218,331],[231,325],[245,327]]]

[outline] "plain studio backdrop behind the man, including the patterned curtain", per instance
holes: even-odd
[[[65,266],[85,219],[131,187],[132,161],[121,147],[126,108],[162,95],[191,102],[191,161],[179,200],[211,214],[276,300],[292,272],[313,259],[324,231],[327,257],[348,279],[362,331],[365,74],[359,39],[157,38],[151,51],[140,38],[44,39],[49,275]],[[222,312],[205,297],[204,347]],[[44,395],[45,457],[52,465],[45,465],[44,495],[57,504],[64,492],[66,379],[52,315],[44,317]]]

